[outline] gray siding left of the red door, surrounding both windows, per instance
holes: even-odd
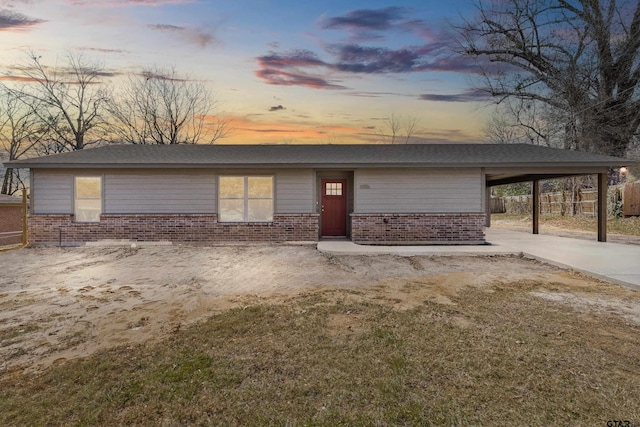
[[[34,170],[33,212],[73,213],[73,177],[103,177],[106,214],[193,213],[217,211],[218,175],[274,175],[276,213],[312,213],[313,171],[258,170]]]

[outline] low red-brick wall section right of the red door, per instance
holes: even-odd
[[[362,244],[477,244],[485,214],[351,214],[351,240]]]

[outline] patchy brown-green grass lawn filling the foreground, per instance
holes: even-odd
[[[408,295],[425,286],[404,280]],[[384,283],[232,308],[155,344],[1,374],[0,424],[640,422],[637,318],[553,296],[640,297],[574,281],[496,281],[409,308]]]

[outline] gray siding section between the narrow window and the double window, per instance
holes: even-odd
[[[214,213],[216,185],[210,170],[109,171],[104,177],[104,213]]]

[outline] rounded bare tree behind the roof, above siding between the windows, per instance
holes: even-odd
[[[230,122],[214,115],[216,102],[201,81],[175,69],[146,69],[129,76],[112,100],[114,132],[132,144],[214,143]]]

